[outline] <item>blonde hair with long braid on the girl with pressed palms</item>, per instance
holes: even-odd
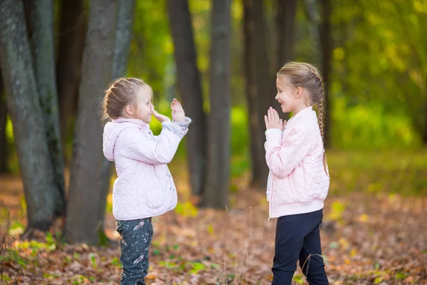
[[[320,71],[309,63],[290,61],[280,68],[277,76],[280,80],[284,81],[285,86],[290,86],[292,88],[301,87],[308,91],[308,99],[310,100],[311,105],[317,104],[317,123],[319,123],[320,135],[322,136],[322,141],[325,145],[323,136],[323,115],[325,114],[326,98],[325,85]],[[323,158],[325,172],[329,176],[325,150]]]

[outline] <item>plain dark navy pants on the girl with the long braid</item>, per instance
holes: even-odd
[[[288,285],[300,261],[309,284],[329,284],[320,247],[319,226],[323,209],[278,218],[275,236],[272,285]]]

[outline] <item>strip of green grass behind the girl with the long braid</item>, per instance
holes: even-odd
[[[427,150],[327,152],[332,194],[367,191],[427,195]]]

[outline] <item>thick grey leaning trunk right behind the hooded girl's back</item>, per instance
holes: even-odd
[[[69,242],[100,243],[102,124],[98,112],[103,90],[112,79],[117,3],[90,1],[89,26],[75,122],[65,237]],[[104,207],[105,209],[105,207]]]

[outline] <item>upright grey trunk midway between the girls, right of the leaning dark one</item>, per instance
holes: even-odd
[[[230,169],[231,0],[212,6],[208,162],[204,206],[228,206]]]

